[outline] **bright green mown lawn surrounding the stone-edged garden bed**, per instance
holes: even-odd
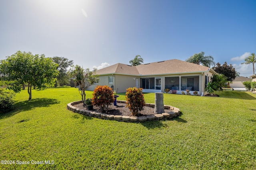
[[[180,117],[125,123],[67,110],[80,100],[74,88],[33,90],[31,101],[22,91],[16,109],[0,115],[0,160],[15,161],[0,169],[254,169],[256,94],[218,95],[164,94],[164,104],[180,108]],[[154,94],[144,98],[154,103]]]

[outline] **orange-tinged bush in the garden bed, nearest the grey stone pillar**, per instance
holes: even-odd
[[[132,115],[138,116],[139,111],[143,110],[145,106],[144,95],[142,94],[142,88],[128,88],[126,89],[126,107],[132,111]]]

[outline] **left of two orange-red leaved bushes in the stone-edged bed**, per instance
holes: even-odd
[[[108,106],[114,102],[114,92],[108,86],[97,86],[92,93],[92,104],[99,106],[101,111],[108,110]]]

